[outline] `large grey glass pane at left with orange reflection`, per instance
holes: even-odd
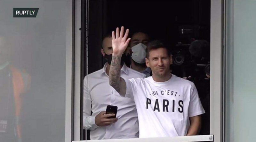
[[[66,29],[72,1],[0,1],[0,141],[65,140]],[[13,8],[39,8],[13,17]],[[31,12],[31,11],[30,11]],[[70,47],[71,48],[71,47]]]

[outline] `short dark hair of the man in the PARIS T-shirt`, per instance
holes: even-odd
[[[171,51],[170,49],[168,49],[167,47],[164,46],[164,43],[159,41],[159,40],[155,40],[155,41],[150,41],[148,43],[148,46],[147,46],[147,49],[146,49],[146,58],[149,57],[149,52],[151,50],[154,50],[154,49],[159,49],[159,48],[164,48],[167,50],[167,53],[168,53],[168,56],[171,56]]]

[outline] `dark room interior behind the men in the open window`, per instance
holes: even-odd
[[[181,64],[178,64],[180,58],[177,57],[177,64],[172,66],[173,74],[179,77],[198,76],[194,76],[191,81],[196,84],[206,111],[202,116],[200,135],[209,134],[210,79],[205,77],[204,70],[210,59],[203,63],[193,61],[191,66],[189,46],[195,40],[205,40],[210,43],[210,2],[210,0],[89,0],[87,47],[89,54],[88,58],[84,56],[84,63],[88,62],[88,68],[84,66],[84,76],[85,71],[90,74],[101,69],[106,62],[100,53],[103,35],[121,26],[129,28],[131,33],[145,32],[151,40],[163,41],[165,46],[172,50],[173,58],[180,54],[183,56],[184,62]],[[210,50],[205,54],[208,52],[210,53]],[[203,65],[198,66],[198,64]]]

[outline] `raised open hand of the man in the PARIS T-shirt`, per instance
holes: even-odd
[[[119,28],[116,28],[115,32],[112,32],[112,47],[113,47],[113,56],[122,56],[125,49],[127,48],[131,38],[128,38],[129,29],[126,29],[124,34],[124,26],[121,27],[121,31],[119,33]],[[124,36],[123,36],[124,35]]]

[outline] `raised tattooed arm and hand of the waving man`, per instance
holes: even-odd
[[[126,30],[124,34],[124,27],[121,27],[120,36],[119,36],[119,28],[116,28],[116,36],[115,32],[112,32],[112,61],[109,70],[109,85],[115,88],[115,90],[121,95],[125,96],[126,93],[126,84],[124,78],[121,78],[121,57],[124,53],[125,49],[130,38],[127,39],[129,33],[129,29]],[[124,37],[123,37],[124,34]],[[127,40],[126,40],[127,39]]]

